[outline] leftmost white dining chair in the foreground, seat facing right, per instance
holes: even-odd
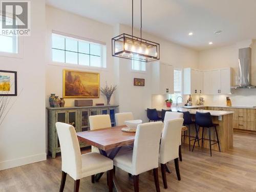
[[[78,192],[80,179],[108,172],[109,191],[113,191],[113,161],[98,153],[81,155],[74,127],[57,122],[57,134],[61,150],[62,178],[59,191],[65,186],[67,174],[75,180],[74,192]]]

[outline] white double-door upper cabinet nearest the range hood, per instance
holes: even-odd
[[[230,94],[230,88],[230,68],[203,71],[204,94],[226,95]]]

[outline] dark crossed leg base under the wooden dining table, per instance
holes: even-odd
[[[115,147],[115,148],[109,153],[109,155],[108,155],[108,153],[106,153],[104,150],[101,150],[100,148],[99,148],[99,152],[100,152],[101,155],[103,155],[103,156],[105,156],[105,157],[108,157],[108,158],[110,158],[110,159],[113,160],[113,159],[115,158],[115,156],[117,155],[117,153],[119,152],[120,148],[121,148],[121,146],[120,146],[120,147]],[[100,178],[102,177],[102,175],[103,175],[103,173],[96,174],[96,176],[95,176],[95,181],[98,182],[98,181],[100,180]],[[119,185],[118,185],[118,183],[117,183],[115,174],[113,175],[113,183],[114,183],[113,186],[115,187],[116,191],[117,191],[117,192],[121,192],[121,188],[119,187]]]

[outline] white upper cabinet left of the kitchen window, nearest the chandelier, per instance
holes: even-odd
[[[152,94],[174,93],[174,68],[164,63],[152,63]]]

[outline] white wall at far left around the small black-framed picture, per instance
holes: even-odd
[[[0,56],[1,70],[17,71],[18,88],[0,127],[0,170],[46,159],[43,0],[31,1],[31,36],[23,38],[22,49],[22,58]]]

